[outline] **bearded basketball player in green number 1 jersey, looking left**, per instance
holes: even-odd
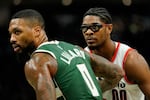
[[[102,100],[96,76],[116,85],[124,72],[103,57],[62,41],[48,41],[42,15],[33,9],[14,14],[8,31],[14,52],[29,56],[25,76],[37,100],[56,100],[56,84],[66,100]],[[25,57],[22,56],[22,57]],[[93,72],[94,70],[94,72]]]

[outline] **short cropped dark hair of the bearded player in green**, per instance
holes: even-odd
[[[15,13],[11,19],[24,18],[32,23],[38,23],[42,28],[45,28],[45,21],[43,16],[34,9],[24,9]]]

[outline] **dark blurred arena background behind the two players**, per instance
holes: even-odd
[[[131,3],[131,4],[130,4]],[[113,18],[112,38],[137,49],[150,63],[150,0],[0,0],[0,100],[35,100],[24,77],[23,63],[9,44],[8,22],[24,8],[38,10],[49,38],[86,46],[80,25],[90,7],[105,7]]]

